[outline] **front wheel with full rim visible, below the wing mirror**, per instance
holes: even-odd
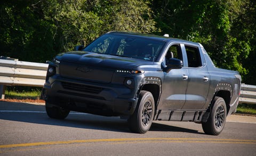
[[[153,95],[148,91],[140,91],[135,111],[128,119],[129,128],[134,133],[146,133],[152,125],[155,112]]]

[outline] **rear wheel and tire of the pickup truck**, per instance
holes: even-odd
[[[227,107],[223,98],[215,97],[207,122],[202,123],[204,133],[219,135],[226,124]]]

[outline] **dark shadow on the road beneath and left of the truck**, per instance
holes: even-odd
[[[0,101],[0,110],[8,110],[0,111],[0,119],[3,120],[131,133],[126,120],[120,119],[119,117],[103,117],[91,114],[76,114],[75,112],[71,112],[66,119],[52,119],[47,116],[45,106],[20,102]],[[194,129],[170,126],[161,123],[153,123],[149,131],[201,134]]]

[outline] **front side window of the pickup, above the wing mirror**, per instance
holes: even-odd
[[[165,62],[167,63],[170,58],[177,58],[183,61],[180,45],[172,45],[168,49],[165,55]]]

